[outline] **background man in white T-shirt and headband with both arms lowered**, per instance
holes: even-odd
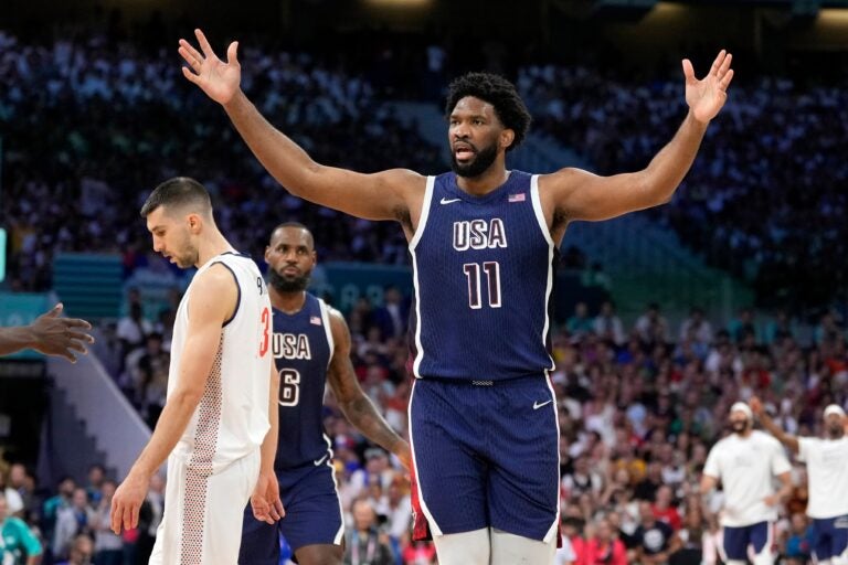
[[[753,414],[748,404],[730,408],[732,434],[712,446],[701,477],[701,494],[709,494],[722,482],[724,508],[720,523],[724,529],[722,559],[728,565],[744,565],[749,548],[754,565],[772,565],[773,525],[777,504],[792,491],[789,461],[781,444],[753,429]],[[772,486],[781,481],[780,491]]]

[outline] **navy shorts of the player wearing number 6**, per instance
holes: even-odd
[[[276,524],[253,518],[251,505],[244,510],[242,565],[278,565],[279,534],[296,552],[306,545],[340,545],[344,535],[341,503],[329,458],[318,465],[307,463],[277,471],[279,497],[286,515]]]

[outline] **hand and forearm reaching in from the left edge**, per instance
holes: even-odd
[[[0,328],[0,355],[34,349],[45,355],[61,355],[72,363],[74,351],[85,354],[85,343],[94,343],[86,330],[92,324],[77,318],[60,318],[62,302],[35,318],[30,326]]]

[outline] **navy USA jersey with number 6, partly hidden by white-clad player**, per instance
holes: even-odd
[[[274,362],[279,372],[279,441],[276,470],[320,465],[329,456],[321,411],[333,342],[322,300],[306,295],[299,312],[274,308]]]

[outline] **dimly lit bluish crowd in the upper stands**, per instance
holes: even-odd
[[[459,50],[424,43],[393,52],[365,42],[371,56],[347,58],[245,45],[243,85],[320,162],[433,173],[444,169],[438,149],[383,103],[413,95],[417,84],[441,83],[435,92],[443,92],[447,70],[467,66]],[[480,64],[504,70],[498,57],[481,55]],[[400,71],[416,65],[415,78]],[[400,90],[388,86],[393,75]],[[685,114],[676,74],[624,76],[597,65],[526,64],[517,84],[536,131],[613,173],[644,167]],[[847,282],[833,264],[848,241],[839,190],[848,164],[837,150],[848,127],[844,86],[838,77],[828,85],[741,77],[683,186],[651,212],[712,264],[753,282],[764,306],[825,306]],[[0,221],[11,234],[15,289],[49,288],[51,257],[63,250],[117,252],[128,271],[144,265],[149,242],[138,204],[182,173],[202,177],[216,194],[222,228],[242,249],[261,250],[272,225],[296,217],[322,234],[324,258],[409,260],[395,226],[279,190],[163,46],[78,30],[22,43],[0,32],[0,128],[8,203]]]

